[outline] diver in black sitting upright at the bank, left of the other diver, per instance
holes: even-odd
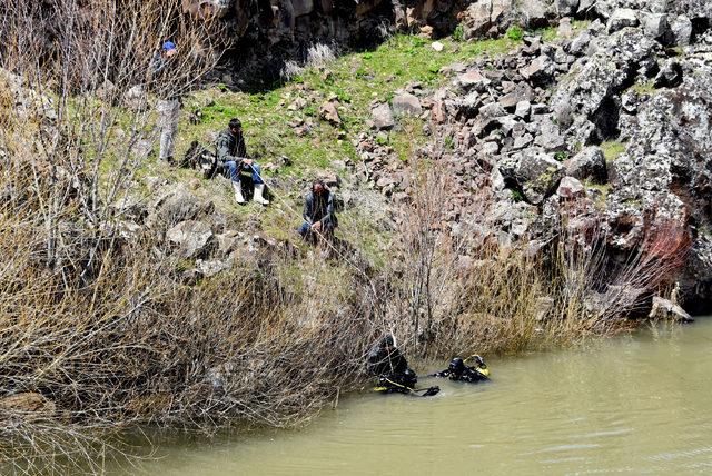
[[[367,369],[369,374],[378,376],[378,386],[374,388],[375,391],[406,395],[423,393],[422,397],[429,397],[441,390],[439,387],[415,389],[418,377],[408,367],[408,361],[395,346],[390,334],[378,340],[368,353]]]

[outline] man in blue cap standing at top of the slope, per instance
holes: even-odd
[[[174,146],[176,132],[178,132],[178,120],[180,119],[180,97],[170,81],[170,67],[175,65],[178,49],[172,41],[166,41],[161,52],[154,57],[151,69],[154,72],[155,90],[159,99],[156,109],[158,110],[158,127],[160,129],[160,148],[158,158],[174,165]]]

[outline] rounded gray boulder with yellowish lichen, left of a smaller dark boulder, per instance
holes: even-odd
[[[515,170],[516,181],[530,204],[541,205],[564,177],[564,168],[553,156],[536,149],[522,155]]]

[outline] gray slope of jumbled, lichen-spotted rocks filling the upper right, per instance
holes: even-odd
[[[542,21],[558,17],[562,40],[527,37],[505,57],[443,71],[452,81],[437,91],[403,92],[426,109],[435,137],[419,155],[456,178],[451,228],[472,218],[467,205],[485,188],[496,205],[484,234],[500,241],[544,244],[562,226],[596,228],[623,262],[665,229],[675,237],[660,245],[665,252],[692,244],[676,278],[688,307],[704,309],[712,297],[712,6],[486,0],[467,8],[483,26],[466,19],[466,34],[503,31],[533,18],[527,8]],[[568,16],[591,22],[574,31]],[[403,166],[375,140],[387,106],[374,112],[375,129],[356,142],[368,179],[407,200]]]

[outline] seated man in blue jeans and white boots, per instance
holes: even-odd
[[[228,129],[218,136],[217,156],[218,162],[222,163],[228,170],[233,190],[235,191],[235,201],[239,205],[245,205],[241,185],[241,178],[244,178],[255,186],[253,199],[258,204],[269,205],[269,201],[264,198],[265,182],[260,175],[261,169],[257,162],[247,158],[243,123],[239,119],[230,119]]]

